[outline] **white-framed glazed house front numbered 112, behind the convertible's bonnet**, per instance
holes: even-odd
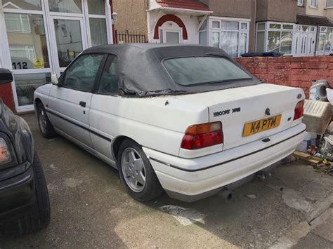
[[[33,110],[34,89],[86,48],[113,43],[111,0],[0,0],[0,67],[13,70],[0,97]]]

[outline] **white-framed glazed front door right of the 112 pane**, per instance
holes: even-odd
[[[79,17],[51,17],[54,71],[58,76],[70,62],[88,48],[84,20]]]

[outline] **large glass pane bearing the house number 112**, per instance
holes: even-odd
[[[50,67],[42,15],[4,13],[13,69]]]

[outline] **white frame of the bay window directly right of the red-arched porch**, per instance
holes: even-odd
[[[246,34],[247,36],[247,41],[246,41],[246,46],[245,46],[245,53],[249,51],[249,19],[242,19],[242,18],[223,18],[223,17],[216,17],[216,16],[211,16],[207,18],[207,39],[208,39],[208,45],[213,46],[213,33],[214,32],[219,32],[219,46],[218,48],[221,48],[221,33],[222,32],[237,32],[237,57],[239,58],[241,56],[240,53],[240,41],[241,41],[241,34]],[[213,22],[219,22],[219,28],[214,28],[213,27]],[[238,23],[238,29],[223,29],[222,28],[222,22],[237,22]],[[246,24],[247,28],[242,29],[242,24]],[[222,49],[222,48],[221,48]]]

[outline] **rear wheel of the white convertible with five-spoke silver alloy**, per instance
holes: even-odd
[[[124,140],[117,159],[120,179],[131,197],[137,201],[151,201],[163,194],[155,171],[139,144]]]

